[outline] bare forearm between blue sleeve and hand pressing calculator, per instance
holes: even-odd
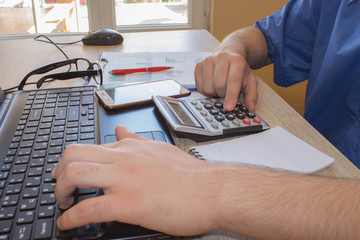
[[[227,36],[214,50],[214,53],[222,51],[242,55],[253,69],[271,63],[266,39],[262,32],[255,27],[243,28]]]

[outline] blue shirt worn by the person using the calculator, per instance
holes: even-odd
[[[305,119],[360,168],[360,0],[290,0],[255,27],[275,83],[308,79]]]

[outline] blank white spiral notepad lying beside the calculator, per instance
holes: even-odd
[[[334,159],[280,126],[236,139],[189,149],[189,153],[220,164],[252,165],[310,174],[329,167]]]

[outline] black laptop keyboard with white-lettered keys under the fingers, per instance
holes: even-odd
[[[51,177],[67,145],[96,143],[94,90],[81,87],[29,93],[0,165],[0,240],[89,239],[103,233],[103,224],[57,230],[61,211]],[[98,189],[78,189],[75,203],[99,194]]]

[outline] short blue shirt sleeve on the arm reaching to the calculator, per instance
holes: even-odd
[[[309,78],[322,0],[290,0],[255,23],[267,41],[274,82],[291,86]]]

